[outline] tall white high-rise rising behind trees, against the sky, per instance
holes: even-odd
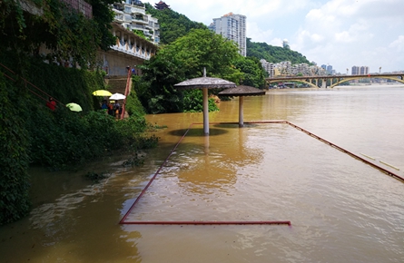
[[[247,39],[245,35],[246,31],[245,15],[234,15],[232,13],[223,15],[221,18],[213,18],[213,23],[209,25],[216,34],[222,34],[239,45],[240,54],[247,55]]]

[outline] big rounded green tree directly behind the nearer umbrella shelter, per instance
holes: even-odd
[[[208,76],[239,83],[240,69],[233,62],[240,58],[238,47],[220,34],[207,29],[192,29],[172,44],[165,45],[153,58],[141,66],[143,76],[136,92],[147,112],[183,112],[183,93],[173,87],[186,79]],[[142,83],[150,83],[144,88]]]

